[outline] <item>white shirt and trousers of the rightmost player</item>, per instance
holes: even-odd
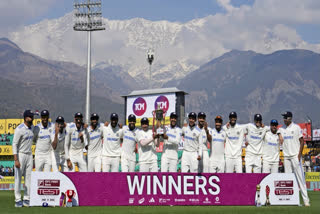
[[[283,137],[283,156],[284,156],[284,171],[285,173],[294,173],[301,190],[301,195],[304,203],[309,203],[309,197],[306,187],[306,182],[304,178],[304,172],[302,169],[301,162],[298,160],[300,141],[299,139],[303,137],[302,130],[299,125],[291,123],[287,127],[281,127],[279,129]]]

